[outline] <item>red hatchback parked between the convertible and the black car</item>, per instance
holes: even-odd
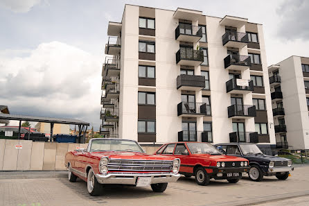
[[[164,144],[155,153],[179,158],[179,173],[195,176],[197,184],[207,185],[209,180],[224,180],[236,183],[242,172],[249,170],[249,162],[242,157],[222,155],[214,146],[204,142],[177,142]]]

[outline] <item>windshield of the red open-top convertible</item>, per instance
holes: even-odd
[[[92,139],[90,152],[96,151],[127,151],[143,153],[136,141],[125,139]]]

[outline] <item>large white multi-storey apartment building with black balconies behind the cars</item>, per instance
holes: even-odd
[[[101,133],[140,144],[276,145],[261,24],[125,5],[107,35]]]

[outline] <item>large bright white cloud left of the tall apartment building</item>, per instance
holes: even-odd
[[[63,117],[99,127],[100,58],[61,42],[23,58],[0,56],[0,102],[14,114]]]

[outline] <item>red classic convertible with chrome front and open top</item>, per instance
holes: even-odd
[[[87,150],[65,155],[69,181],[80,178],[87,182],[91,196],[103,191],[103,184],[151,186],[163,192],[168,182],[176,182],[180,160],[175,157],[147,155],[136,141],[126,139],[90,139]]]

